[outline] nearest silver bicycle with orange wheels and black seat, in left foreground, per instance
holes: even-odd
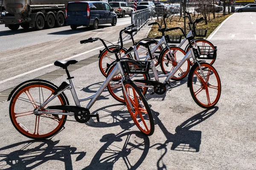
[[[122,31],[120,31],[120,40],[122,40]],[[154,120],[148,102],[140,89],[127,76],[128,71],[122,65],[129,64],[125,61],[120,61],[117,53],[122,48],[116,47],[112,51],[107,47],[104,40],[101,38],[81,40],[81,44],[94,42],[96,40],[102,41],[105,48],[115,53],[117,65],[113,68],[113,72],[105,80],[99,90],[84,99],[79,99],[76,94],[76,89],[68,71],[68,66],[76,64],[77,60],[54,62],[55,66],[65,69],[67,73],[67,81],[61,83],[60,86],[54,85],[52,82],[43,79],[32,79],[18,85],[10,94],[11,100],[9,106],[9,116],[12,124],[18,132],[23,136],[32,139],[47,139],[56,135],[64,126],[67,116],[74,116],[76,122],[85,123],[91,117],[96,117],[99,122],[98,114],[90,114],[89,109],[96,102],[100,94],[105,90],[108,83],[115,76],[115,74],[122,75],[123,95],[125,96],[125,103],[134,123],[145,135],[152,135],[154,133]],[[138,72],[146,73],[149,65],[146,63],[144,68]],[[150,64],[150,63],[149,63]],[[73,96],[75,106],[69,105],[67,96],[64,91],[70,90]],[[81,107],[81,102],[90,100],[86,108]],[[42,127],[42,128],[41,128]]]

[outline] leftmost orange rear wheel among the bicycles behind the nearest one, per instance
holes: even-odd
[[[110,50],[113,50],[114,48],[116,48],[116,47],[114,47],[114,46],[109,47]],[[120,50],[121,54],[119,55],[119,58],[122,56],[122,54],[125,54],[126,51],[127,51],[126,48],[122,48]],[[105,72],[105,70],[108,68],[108,66],[106,65],[106,67],[105,67],[103,65],[111,64],[112,62],[114,62],[116,60],[114,53],[110,53],[111,55],[109,55],[108,53],[110,53],[110,52],[108,52],[106,49],[104,49],[102,51],[102,53],[99,54],[99,70],[104,77],[107,77],[107,73]],[[127,58],[131,58],[131,56],[129,54],[126,56],[127,56]],[[108,58],[108,59],[106,59],[106,58]],[[103,61],[103,60],[106,60],[106,61]]]

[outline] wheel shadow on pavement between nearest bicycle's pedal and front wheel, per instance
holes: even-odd
[[[125,104],[104,106],[91,114],[96,113],[99,113],[99,122],[97,122],[96,118],[93,118],[86,122],[86,125],[99,128],[120,126],[122,130],[129,130],[135,125]]]

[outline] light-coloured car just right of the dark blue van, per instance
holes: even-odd
[[[131,12],[134,10],[125,2],[111,2],[109,5],[114,9],[118,17],[125,17],[125,15],[131,17]]]

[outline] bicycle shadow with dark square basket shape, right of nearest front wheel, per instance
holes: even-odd
[[[157,161],[157,169],[166,169],[163,162],[163,157],[168,151],[167,145],[172,142],[171,150],[177,151],[187,151],[187,152],[199,152],[201,145],[202,132],[198,130],[189,130],[190,128],[198,125],[199,123],[205,121],[210,116],[218,111],[218,107],[215,106],[212,109],[204,110],[195,116],[187,119],[185,122],[178,125],[175,129],[175,134],[170,133],[166,127],[163,125],[161,120],[158,118],[159,113],[152,110],[155,125],[158,125],[162,130],[163,134],[166,136],[166,142],[157,143],[151,147],[156,147],[157,150],[164,150],[160,159]]]

